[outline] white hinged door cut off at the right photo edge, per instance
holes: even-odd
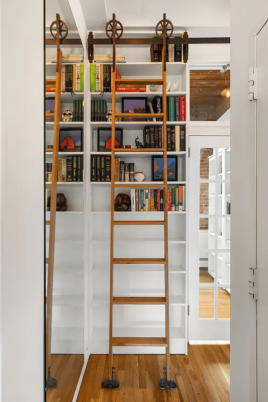
[[[257,35],[257,394],[258,401],[267,400],[268,374],[268,22]]]

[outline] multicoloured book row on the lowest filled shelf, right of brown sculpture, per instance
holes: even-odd
[[[131,212],[164,211],[164,190],[130,189]],[[185,184],[167,189],[167,211],[185,211]]]

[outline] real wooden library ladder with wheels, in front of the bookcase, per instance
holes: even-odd
[[[114,377],[113,369],[113,346],[162,346],[166,350],[166,367],[164,367],[164,377],[160,378],[158,385],[161,389],[169,387],[171,389],[176,388],[176,382],[170,378],[170,356],[169,356],[169,289],[168,289],[168,227],[167,227],[167,156],[166,156],[166,61],[165,61],[165,45],[166,45],[166,20],[165,14],[162,21],[162,36],[163,36],[163,51],[162,51],[162,78],[161,79],[116,79],[116,34],[117,24],[119,23],[115,19],[113,14],[113,20],[110,22],[112,25],[113,40],[113,72],[112,72],[112,162],[111,162],[111,251],[110,251],[110,329],[109,329],[109,371],[108,377],[103,379],[102,387],[118,388],[120,383],[117,378]],[[109,24],[109,23],[108,23]],[[108,25],[107,24],[107,25]],[[121,23],[120,23],[121,24]],[[108,33],[107,33],[107,36]],[[120,44],[124,40],[120,39]],[[149,43],[149,42],[148,42]],[[153,43],[153,42],[151,42]],[[163,183],[157,184],[157,187],[164,190],[164,219],[163,221],[120,221],[115,220],[114,214],[114,199],[115,188],[117,187],[144,187],[144,184],[138,182],[131,183],[118,183],[115,182],[115,150],[116,152],[124,151],[124,149],[115,149],[115,120],[116,118],[132,117],[130,113],[115,113],[116,106],[116,84],[158,84],[162,85],[163,96],[163,113],[162,114],[135,114],[137,118],[162,118],[163,120],[163,148],[162,149],[150,149],[150,151],[161,151],[163,155],[163,171],[164,178]],[[128,149],[128,152],[135,151],[147,151],[145,148]],[[150,187],[150,186],[149,186]],[[151,187],[155,187],[155,184]],[[164,257],[163,258],[115,258],[114,257],[114,229],[118,225],[162,225],[164,229]],[[114,297],[113,295],[113,271],[114,265],[117,264],[161,264],[164,266],[164,278],[165,289],[164,297]],[[165,336],[160,337],[114,337],[113,336],[113,306],[115,305],[164,305],[165,306]]]

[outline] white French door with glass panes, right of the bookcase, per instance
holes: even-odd
[[[189,340],[229,340],[230,141],[189,146]]]

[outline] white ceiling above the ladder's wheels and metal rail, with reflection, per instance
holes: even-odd
[[[46,27],[59,13],[69,31],[76,30],[68,0],[46,0],[45,3]],[[162,20],[163,13],[177,29],[211,27],[215,29],[215,36],[218,36],[218,32],[222,35],[219,28],[228,31],[230,26],[230,0],[80,0],[80,4],[87,30],[93,32],[103,31],[106,23],[113,18],[113,13],[126,31],[131,27],[154,30],[158,21]]]

